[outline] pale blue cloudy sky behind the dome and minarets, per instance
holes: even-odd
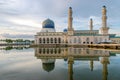
[[[120,35],[120,0],[0,0],[0,38],[34,38],[42,22],[50,18],[56,31],[67,28],[68,8],[73,10],[75,30],[101,27],[101,9],[107,7],[109,33]]]

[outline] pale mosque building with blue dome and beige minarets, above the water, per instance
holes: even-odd
[[[89,21],[89,30],[74,30],[72,7],[68,10],[68,28],[63,32],[56,32],[54,21],[46,19],[42,23],[42,29],[35,35],[35,45],[52,44],[97,44],[107,42],[115,37],[115,34],[109,34],[107,26],[106,6],[102,7],[102,26],[99,30],[93,29],[93,20]],[[101,33],[99,33],[101,32]]]

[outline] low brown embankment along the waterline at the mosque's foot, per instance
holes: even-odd
[[[32,44],[30,47],[86,47],[98,49],[120,49],[120,44]]]

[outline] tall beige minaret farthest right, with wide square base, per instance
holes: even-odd
[[[107,27],[107,10],[106,10],[106,6],[103,6],[102,8],[102,27],[101,27],[101,34],[109,34],[108,30],[109,27]]]

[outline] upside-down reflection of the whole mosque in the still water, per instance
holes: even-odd
[[[90,70],[93,71],[94,61],[103,65],[103,80],[107,80],[110,51],[93,50],[89,48],[36,48],[35,56],[42,60],[43,69],[50,72],[55,67],[55,59],[68,61],[69,80],[73,80],[73,63],[75,60],[90,61]],[[102,57],[102,58],[99,58]]]

